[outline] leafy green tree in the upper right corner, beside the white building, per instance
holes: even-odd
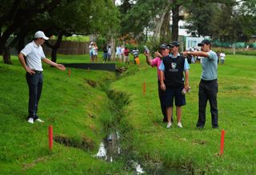
[[[199,36],[211,36],[222,42],[248,41],[256,32],[255,3],[254,0],[194,2],[186,8],[190,32],[196,30]]]

